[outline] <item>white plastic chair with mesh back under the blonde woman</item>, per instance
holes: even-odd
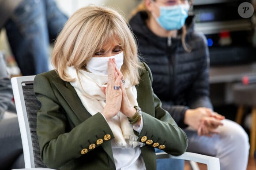
[[[19,170],[53,170],[47,168],[41,161],[36,133],[37,112],[41,108],[41,103],[37,100],[34,94],[34,77],[35,76],[20,76],[11,78],[25,159],[25,169]],[[156,156],[157,159],[174,158],[189,160],[191,165],[193,164],[193,161],[204,163],[207,164],[208,170],[220,170],[219,159],[211,156],[190,152],[185,152],[181,156],[172,156],[162,152],[157,153]],[[197,169],[198,166],[194,167],[196,169],[193,168],[193,170],[199,170]]]

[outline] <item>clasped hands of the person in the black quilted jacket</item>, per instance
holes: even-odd
[[[222,126],[224,116],[213,112],[209,108],[200,107],[197,109],[188,109],[185,113],[184,123],[197,130],[199,136],[211,137],[213,134],[219,134],[217,128]]]

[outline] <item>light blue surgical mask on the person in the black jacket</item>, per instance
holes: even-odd
[[[155,4],[155,2],[153,3]],[[188,17],[189,5],[178,4],[173,6],[160,6],[159,9],[159,17],[156,17],[154,13],[152,13],[152,15],[163,29],[181,29],[181,27],[185,24],[186,18]]]

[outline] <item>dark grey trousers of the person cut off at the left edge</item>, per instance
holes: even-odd
[[[0,170],[25,168],[18,118],[0,120]]]

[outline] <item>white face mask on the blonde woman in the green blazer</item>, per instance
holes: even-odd
[[[108,75],[109,58],[115,58],[117,68],[120,70],[124,63],[124,52],[120,52],[119,54],[111,57],[92,57],[90,61],[87,63],[86,69],[93,74],[106,76]]]

